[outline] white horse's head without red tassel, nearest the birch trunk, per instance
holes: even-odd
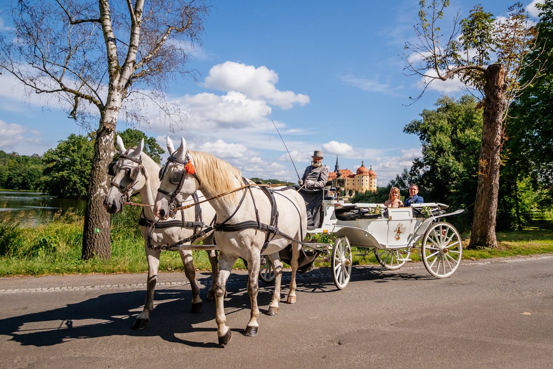
[[[121,137],[117,136],[119,158],[109,164],[108,174],[112,176],[103,206],[107,212],[114,214],[123,210],[123,202],[138,192],[146,183],[145,169],[142,165],[144,139],[138,147],[126,149]]]

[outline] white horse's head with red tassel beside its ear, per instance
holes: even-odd
[[[159,172],[161,183],[154,205],[154,214],[163,220],[173,216],[173,209],[200,187],[184,137],[181,137],[180,147],[176,150],[173,141],[167,137],[167,150],[170,156]]]

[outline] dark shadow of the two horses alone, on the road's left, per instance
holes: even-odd
[[[225,301],[227,314],[249,309],[249,297],[239,285],[227,286]],[[59,292],[53,292],[59,293]],[[191,292],[183,289],[158,289],[155,292],[155,308],[150,324],[144,330],[132,330],[131,326],[145,298],[145,290],[113,292],[67,304],[58,309],[40,313],[13,316],[0,320],[0,335],[11,336],[11,341],[29,346],[53,346],[75,339],[109,336],[159,336],[169,342],[189,346],[219,347],[214,342],[182,340],[176,334],[192,331],[212,331],[216,337],[215,302],[204,298],[201,313],[190,312]],[[260,294],[261,295],[261,294]],[[41,298],[43,293],[35,293]],[[270,302],[270,295],[263,294],[263,301]],[[262,299],[259,299],[262,302]],[[213,328],[197,328],[196,324],[213,320]],[[246,322],[244,322],[244,326]],[[46,328],[45,328],[46,327]]]

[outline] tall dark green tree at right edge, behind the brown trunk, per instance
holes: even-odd
[[[505,167],[502,168],[498,208],[504,228],[519,229],[531,220],[530,205],[534,209],[549,210],[553,191],[553,1],[536,4],[540,20],[536,25],[536,44],[530,60],[521,73],[520,83],[528,85],[512,103],[505,129]],[[548,53],[541,52],[549,51]],[[544,66],[541,74],[537,65]],[[531,199],[531,200],[529,200]],[[499,224],[498,224],[499,226]]]

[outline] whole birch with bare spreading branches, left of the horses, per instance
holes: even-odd
[[[163,89],[168,79],[190,74],[186,47],[199,40],[207,10],[201,1],[182,0],[12,3],[14,27],[0,39],[0,70],[29,93],[51,96],[50,103],[80,124],[97,124],[84,259],[111,257],[110,218],[102,201],[118,118],[123,113],[127,121],[147,123],[151,112],[136,102],[150,98],[155,113],[179,122],[178,107],[164,100]]]

